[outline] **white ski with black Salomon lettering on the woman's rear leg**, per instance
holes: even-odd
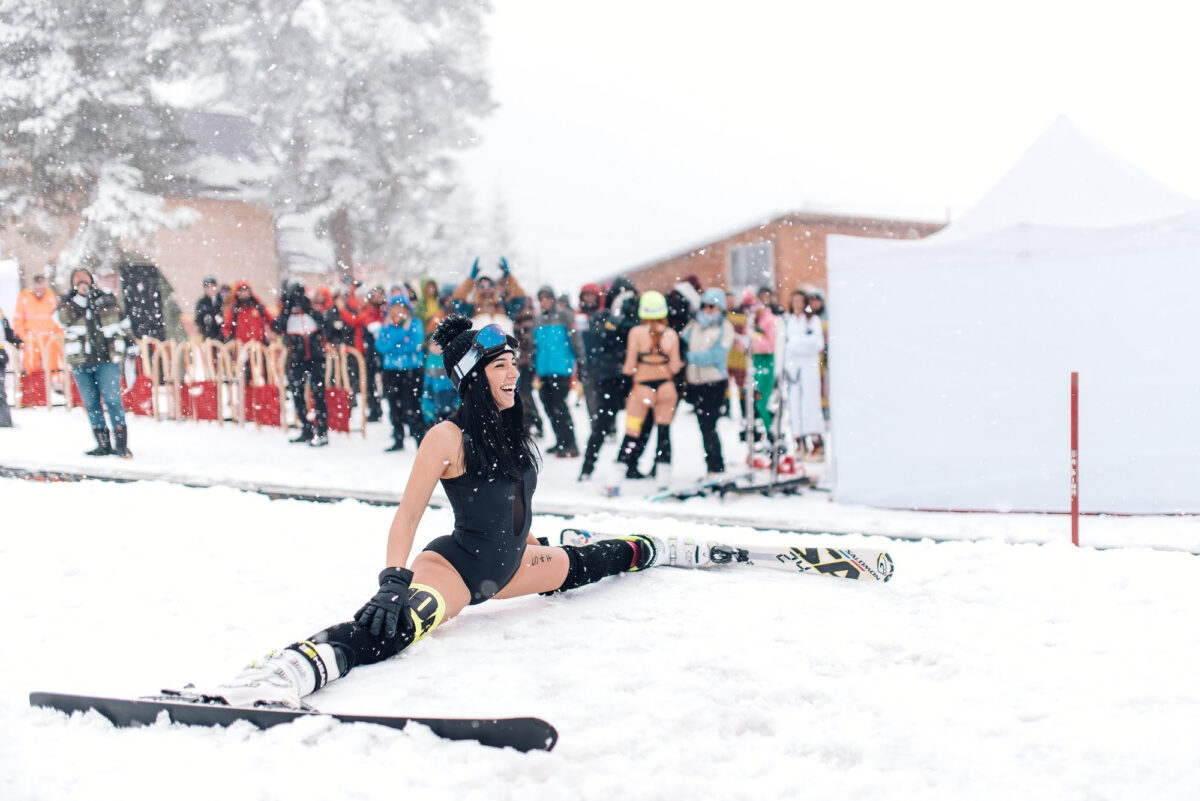
[[[582,529],[563,529],[559,540],[564,546],[588,546],[613,535]],[[719,567],[746,565],[790,573],[834,576],[859,582],[889,582],[895,572],[892,554],[870,548],[800,548],[754,546],[742,548],[719,542],[700,542],[685,537],[659,537],[665,553],[658,565],[664,567]],[[656,565],[656,566],[658,566]]]

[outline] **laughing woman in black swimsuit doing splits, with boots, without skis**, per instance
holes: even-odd
[[[472,329],[457,314],[438,324],[432,338],[444,349],[462,405],[421,441],[388,532],[379,591],[353,620],[272,652],[227,683],[190,687],[199,699],[300,707],[304,695],[360,664],[395,656],[469,604],[569,590],[658,561],[661,542],[642,535],[559,548],[530,537],[539,458],[523,426],[517,342],[496,325]],[[406,567],[439,481],[454,532]]]

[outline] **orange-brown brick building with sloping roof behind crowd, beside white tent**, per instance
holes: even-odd
[[[788,213],[722,236],[682,253],[643,264],[620,275],[637,289],[668,291],[686,276],[703,287],[740,293],[748,287],[773,287],[786,297],[800,285],[827,289],[826,237],[830,234],[882,239],[922,239],[946,223],[854,217],[827,213]]]

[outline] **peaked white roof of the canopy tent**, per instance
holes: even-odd
[[[1018,227],[1110,228],[1200,210],[1060,116],[1008,173],[929,242]]]

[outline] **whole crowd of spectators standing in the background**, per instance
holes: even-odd
[[[0,335],[10,344],[24,344],[23,359],[31,369],[62,357],[41,353],[56,348],[56,338],[36,335],[64,332],[65,355],[96,434],[94,452],[128,456],[120,403],[113,402],[114,362],[124,353],[127,321],[115,297],[92,284],[90,273],[76,271],[72,287],[58,299],[36,276],[22,293],[11,326],[0,314]],[[274,306],[245,281],[229,285],[208,277],[202,291],[194,305],[199,337],[286,347],[286,381],[300,421],[294,442],[328,445],[325,359],[338,345],[348,345],[362,355],[365,369],[360,377],[359,362],[348,363],[354,373],[350,387],[366,386],[365,397],[355,402],[366,404],[371,422],[382,421],[388,411],[388,450],[403,450],[407,440],[419,445],[425,432],[457,406],[448,366],[430,339],[443,318],[457,313],[476,327],[496,325],[518,341],[524,423],[536,438],[553,435],[553,444],[544,448],[547,454],[574,459],[583,444],[581,481],[592,480],[605,442],[616,440],[618,412],[624,411],[617,447],[624,477],[649,475],[660,484],[670,482],[671,426],[680,402],[695,414],[709,477],[726,470],[718,421],[731,414],[734,398],[749,399],[743,410],[756,421],[743,439],[778,452],[794,448],[810,460],[823,458],[827,324],[824,299],[815,289],[797,288],[781,306],[769,287],[748,289],[738,297],[689,276],[665,294],[638,293],[620,277],[607,287],[586,284],[572,307],[551,285],[529,296],[502,258],[492,270],[476,259],[457,285],[443,287],[427,276],[415,287],[344,282],[310,290],[289,281]],[[6,359],[0,345],[0,360]],[[576,435],[572,403],[586,405],[586,438]],[[106,410],[115,440],[109,439]],[[785,410],[786,434],[775,418]],[[0,385],[0,426],[5,424],[11,423]],[[652,435],[654,458],[643,471],[640,460]]]

